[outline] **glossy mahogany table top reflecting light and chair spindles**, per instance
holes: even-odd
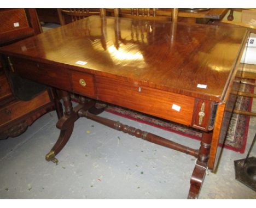
[[[243,28],[91,16],[0,52],[221,102],[246,35]]]

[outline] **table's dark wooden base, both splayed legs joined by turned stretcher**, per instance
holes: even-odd
[[[63,117],[60,118],[60,120],[56,124],[57,128],[61,130],[60,136],[50,152],[46,154],[46,161],[53,161],[54,163],[58,162],[55,156],[63,149],[63,147],[66,145],[69,138],[71,137],[74,122],[80,117],[86,117],[100,124],[106,125],[112,129],[122,131],[124,133],[129,133],[132,136],[148,140],[148,142],[159,144],[161,146],[181,151],[185,154],[196,157],[197,161],[190,180],[188,199],[196,199],[198,197],[207,170],[207,161],[210,154],[212,132],[205,132],[202,134],[200,149],[195,150],[189,148],[188,146],[184,146],[172,142],[171,140],[157,136],[153,133],[149,133],[131,126],[121,124],[119,121],[113,121],[110,119],[99,117],[96,114],[104,111],[104,108],[96,108],[95,100],[90,100],[86,102],[85,98],[83,96],[80,96],[79,104],[73,108],[69,93],[67,91],[61,91],[61,94],[63,99],[63,105],[65,106],[65,115],[63,115]]]

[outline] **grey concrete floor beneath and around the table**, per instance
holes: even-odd
[[[255,102],[254,102],[255,103]],[[254,105],[255,108],[255,105]],[[199,141],[136,123],[107,112],[123,124],[199,147]],[[56,113],[39,118],[16,138],[0,140],[1,199],[186,199],[193,156],[132,137],[80,118],[71,139],[46,162],[59,130]],[[234,160],[246,157],[256,133],[251,118],[246,153],[224,149],[218,172],[206,176],[199,199],[256,199],[256,192],[235,180]],[[256,155],[254,146],[250,156]]]

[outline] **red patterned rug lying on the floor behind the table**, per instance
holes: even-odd
[[[253,87],[250,85],[243,85],[242,90],[245,92],[253,93]],[[236,101],[236,109],[243,111],[251,111],[252,99],[249,97],[238,96]],[[121,108],[118,106],[108,105],[106,111],[119,115],[121,117],[129,118],[140,123],[148,124],[159,129],[181,134],[185,137],[200,140],[202,133],[199,130],[190,127],[173,123],[172,121],[152,117],[147,114],[132,111],[130,109]],[[224,148],[237,151],[240,153],[245,152],[247,141],[247,133],[250,117],[247,115],[233,114],[228,133],[226,135]]]

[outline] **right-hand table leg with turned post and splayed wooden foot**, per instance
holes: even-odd
[[[207,171],[207,162],[210,155],[211,141],[212,132],[204,132],[202,134],[199,156],[197,158],[195,168],[190,179],[188,199],[197,199],[199,195]]]

